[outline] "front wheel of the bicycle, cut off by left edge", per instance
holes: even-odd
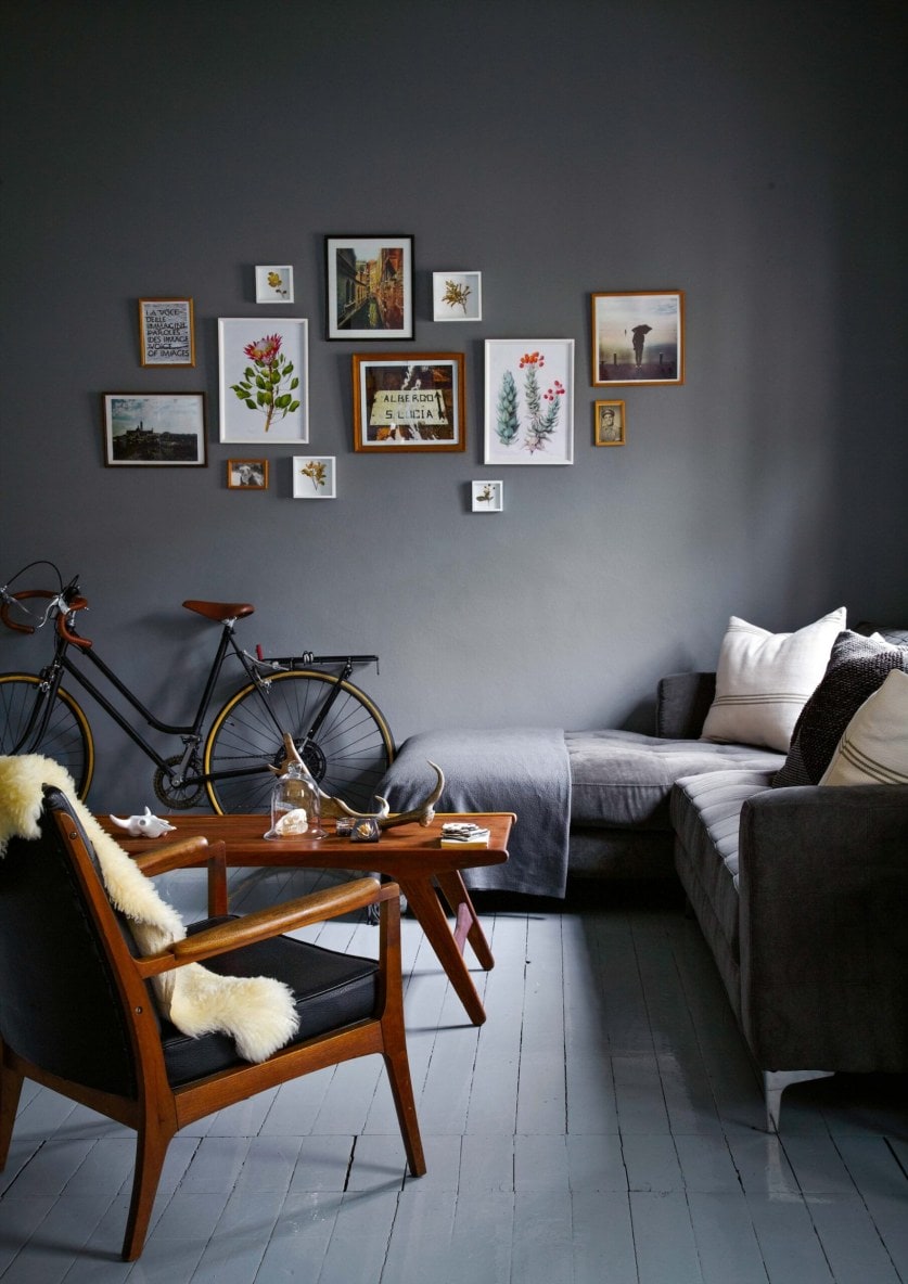
[[[91,785],[95,770],[95,743],[89,720],[68,692],[60,687],[48,718],[44,736],[30,729],[40,725],[42,710],[41,679],[33,673],[0,674],[0,754],[44,754],[64,767],[73,778],[80,799]]]

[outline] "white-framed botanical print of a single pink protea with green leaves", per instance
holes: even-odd
[[[308,442],[308,321],[221,317],[221,440]]]

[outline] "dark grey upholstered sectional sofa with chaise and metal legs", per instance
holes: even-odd
[[[904,648],[896,666],[908,670],[908,630],[881,632]],[[836,646],[854,638],[841,634]],[[533,791],[532,763],[523,772],[527,808],[512,792],[521,773],[501,770],[502,759],[541,738],[532,729],[503,741],[493,732],[414,737],[379,792],[396,810],[415,805],[432,758],[457,764],[441,809],[518,811],[518,859],[510,872],[489,867],[500,882],[470,877],[488,869],[467,871],[474,890],[546,890],[548,858],[533,865],[533,808],[569,822],[570,878],[672,876],[674,865],[764,1075],[774,1129],[791,1082],[835,1071],[908,1072],[908,785],[801,783],[810,770],[819,779],[816,752],[807,767],[799,756],[805,737],[794,755],[700,740],[714,692],[712,673],[676,674],[659,683],[655,736],[564,732],[569,788],[556,805],[547,783]],[[860,693],[849,687],[850,697]],[[825,734],[827,754],[839,731]]]

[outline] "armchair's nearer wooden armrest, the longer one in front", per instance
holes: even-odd
[[[136,959],[136,967],[143,976],[158,976],[186,963],[202,963],[216,954],[226,954],[227,950],[241,949],[244,945],[281,936],[299,927],[321,923],[378,901],[393,900],[399,894],[397,883],[357,878],[354,882],[310,892],[283,905],[259,909],[243,918],[234,918],[227,923],[208,927],[203,932],[195,932],[182,941],[173,941],[166,950]]]

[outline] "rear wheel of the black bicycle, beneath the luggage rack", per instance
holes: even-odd
[[[327,716],[307,734],[333,690]],[[375,788],[394,756],[390,729],[378,705],[349,682],[294,669],[275,674],[262,692],[250,683],[216,716],[205,740],[208,797],[216,811],[267,811],[275,777],[266,768],[284,759],[283,736],[294,745],[325,794],[357,811],[374,810]],[[229,776],[220,773],[238,772]]]

